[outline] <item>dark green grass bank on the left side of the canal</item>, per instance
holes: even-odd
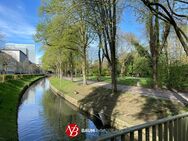
[[[0,141],[17,140],[17,106],[23,88],[42,76],[27,76],[0,83]]]

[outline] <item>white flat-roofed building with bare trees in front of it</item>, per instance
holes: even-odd
[[[0,74],[39,74],[40,66],[29,61],[27,55],[18,49],[0,50]]]

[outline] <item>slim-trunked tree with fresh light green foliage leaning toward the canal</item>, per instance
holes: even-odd
[[[62,46],[64,49],[78,52],[82,58],[83,84],[86,85],[87,48],[92,32],[85,21],[84,7],[74,0],[51,0],[44,3],[41,9],[51,24],[43,26],[45,29],[39,25],[37,38],[48,46]]]

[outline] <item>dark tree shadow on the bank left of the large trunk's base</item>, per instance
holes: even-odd
[[[117,117],[118,112],[113,112],[118,102],[120,93],[113,94],[111,90],[103,87],[93,88],[92,92],[79,101],[80,109],[91,111],[102,120],[104,128],[113,125],[111,116]],[[114,119],[114,118],[113,118]]]

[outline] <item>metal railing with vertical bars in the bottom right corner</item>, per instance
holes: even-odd
[[[188,113],[125,128],[97,141],[188,141]]]

